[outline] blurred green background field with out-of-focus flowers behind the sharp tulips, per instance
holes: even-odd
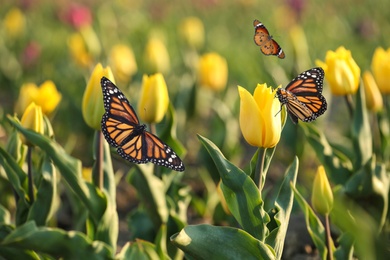
[[[0,118],[13,113],[21,116],[17,100],[24,84],[40,86],[51,80],[62,96],[49,114],[56,140],[88,167],[93,163],[93,130],[83,121],[81,103],[96,63],[113,70],[117,67],[116,83],[133,107],[137,107],[143,74],[162,72],[178,116],[178,139],[188,150],[184,180],[199,195],[204,187],[198,173],[206,159],[199,152],[197,133],[213,140],[240,166],[247,165],[255,151],[242,141],[238,128],[237,85],[251,92],[257,83],[285,86],[298,73],[315,67],[316,59],[324,60],[326,51],[339,46],[351,50],[362,71],[370,70],[375,48],[390,46],[389,8],[387,0],[3,0]],[[199,36],[194,31],[189,34],[194,39],[188,39],[191,36],[185,32],[193,29],[185,26],[188,17],[200,19],[204,35],[202,30]],[[284,60],[260,53],[253,42],[254,19],[262,21],[281,45]],[[130,48],[119,51],[124,60],[113,51],[119,44]],[[192,93],[192,86],[199,85],[198,58],[208,52],[226,59],[226,88],[213,92],[197,86],[198,91]],[[186,102],[192,100],[186,99],[191,94],[197,95],[196,103]],[[345,125],[347,108],[340,102],[342,98],[331,97],[326,83],[324,96],[328,111],[315,124],[334,142],[343,142],[340,134],[349,127]],[[224,129],[220,121],[229,128]],[[6,140],[7,129],[2,128],[1,145]],[[299,178],[305,186],[315,172],[316,159],[305,145],[303,133],[288,122],[271,166],[271,180],[277,182],[296,154],[301,160]],[[118,168],[128,167],[116,159]],[[209,172],[217,179],[212,168]]]

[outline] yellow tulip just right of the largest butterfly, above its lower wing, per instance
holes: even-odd
[[[144,75],[138,102],[138,115],[141,120],[147,123],[160,122],[168,110],[168,105],[168,88],[163,75]]]

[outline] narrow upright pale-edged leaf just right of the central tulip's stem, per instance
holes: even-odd
[[[283,183],[280,186],[278,196],[275,201],[274,221],[276,228],[271,229],[270,234],[266,238],[267,244],[274,248],[276,259],[282,258],[284,242],[287,234],[287,228],[290,221],[291,211],[294,205],[294,192],[291,186],[295,187],[298,175],[298,158],[295,157],[291,166],[287,169]],[[290,186],[291,185],[291,186]]]

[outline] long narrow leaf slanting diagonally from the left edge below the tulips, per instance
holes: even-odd
[[[94,185],[85,182],[81,175],[81,162],[70,155],[55,141],[34,131],[25,129],[12,116],[8,116],[9,122],[17,128],[33,145],[40,147],[53,160],[59,169],[62,178],[69,188],[90,211],[90,216],[97,223],[106,208],[103,194]]]

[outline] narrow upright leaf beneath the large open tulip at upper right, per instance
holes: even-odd
[[[372,134],[368,120],[364,88],[360,87],[356,95],[356,108],[352,122],[352,143],[355,151],[355,169],[359,169],[372,157]]]

